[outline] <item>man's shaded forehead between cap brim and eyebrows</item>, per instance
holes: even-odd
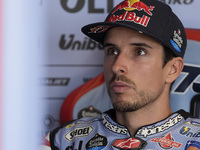
[[[105,42],[120,42],[121,44],[129,42],[142,42],[162,47],[162,45],[152,37],[125,27],[113,27],[109,29],[104,38],[104,43]]]

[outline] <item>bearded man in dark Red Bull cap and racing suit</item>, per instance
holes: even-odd
[[[173,113],[169,93],[181,73],[184,27],[157,0],[125,0],[104,22],[82,28],[104,47],[104,72],[114,109],[50,132],[51,150],[200,149],[200,120]]]

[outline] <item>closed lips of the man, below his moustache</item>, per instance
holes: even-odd
[[[116,93],[122,93],[131,88],[128,84],[124,82],[112,82],[110,87]]]

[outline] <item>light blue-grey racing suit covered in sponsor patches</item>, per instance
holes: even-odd
[[[141,127],[133,137],[114,120],[115,112],[109,110],[67,123],[47,135],[43,150],[200,150],[200,119],[184,110]]]

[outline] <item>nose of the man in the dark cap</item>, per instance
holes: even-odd
[[[128,71],[128,58],[120,53],[112,66],[112,71],[117,75],[126,74]]]

